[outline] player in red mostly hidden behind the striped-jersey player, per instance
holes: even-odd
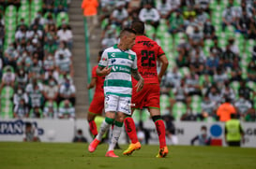
[[[102,50],[100,50],[98,52],[98,62],[100,61],[102,52],[103,52]],[[105,98],[104,97],[104,91],[103,91],[103,85],[104,85],[105,77],[104,76],[100,77],[100,76],[97,75],[97,73],[96,73],[97,68],[98,68],[98,65],[95,65],[93,67],[92,81],[87,86],[88,90],[96,87],[95,93],[94,93],[94,98],[93,98],[92,103],[89,107],[88,115],[87,115],[87,120],[88,120],[88,123],[89,123],[90,132],[94,136],[96,136],[98,134],[97,125],[95,123],[95,118],[96,118],[96,116],[101,115],[102,110],[104,108],[104,98]]]

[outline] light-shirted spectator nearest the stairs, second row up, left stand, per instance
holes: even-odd
[[[70,83],[69,79],[66,78],[65,83],[60,85],[59,96],[60,100],[69,100],[73,106],[75,106],[76,96],[75,96],[75,86]]]

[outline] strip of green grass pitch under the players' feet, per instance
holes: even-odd
[[[0,142],[1,169],[255,169],[256,148],[169,147],[164,159],[155,158],[158,146],[143,146],[132,156],[104,157],[107,145],[94,153],[86,144]],[[127,145],[121,145],[127,148]]]

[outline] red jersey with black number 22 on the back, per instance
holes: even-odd
[[[158,43],[145,35],[137,35],[132,50],[137,54],[138,71],[144,83],[158,83],[157,59],[165,54]]]

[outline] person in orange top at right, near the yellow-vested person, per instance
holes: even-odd
[[[225,122],[231,120],[231,114],[237,114],[235,107],[231,104],[231,99],[225,96],[225,102],[218,106],[217,116],[219,121]]]

